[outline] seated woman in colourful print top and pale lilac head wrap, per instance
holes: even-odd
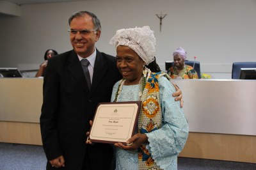
[[[172,79],[198,79],[198,75],[192,66],[185,65],[187,52],[179,47],[173,52],[173,66],[171,66],[167,73]]]

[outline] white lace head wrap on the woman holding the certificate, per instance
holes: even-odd
[[[119,29],[109,43],[115,45],[115,47],[119,45],[130,47],[146,65],[154,61],[156,56],[156,38],[154,31],[150,30],[148,26]]]

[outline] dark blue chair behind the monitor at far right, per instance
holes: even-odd
[[[234,62],[232,65],[232,79],[239,79],[241,68],[256,68],[256,62]]]

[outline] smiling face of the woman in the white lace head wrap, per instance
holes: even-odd
[[[145,62],[130,47],[119,45],[116,48],[116,66],[125,84],[138,84],[141,79]]]

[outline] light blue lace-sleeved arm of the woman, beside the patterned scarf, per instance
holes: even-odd
[[[165,78],[159,79],[162,127],[147,134],[149,151],[161,168],[167,167],[182,151],[188,138],[188,122],[179,102],[175,102],[173,85]]]

